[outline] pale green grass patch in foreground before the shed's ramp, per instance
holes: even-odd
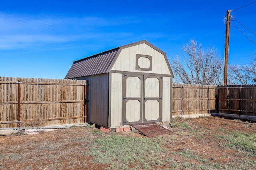
[[[92,141],[92,147],[83,154],[94,156],[94,162],[110,164],[109,169],[130,169],[129,165],[135,164],[137,169],[153,169],[163,164],[165,149],[161,144],[161,138],[111,135]]]

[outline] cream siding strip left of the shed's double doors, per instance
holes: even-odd
[[[111,109],[110,127],[118,127],[122,123],[122,74],[111,73]]]

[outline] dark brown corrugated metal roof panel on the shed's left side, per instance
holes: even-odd
[[[106,73],[118,50],[119,47],[74,61],[65,79]]]

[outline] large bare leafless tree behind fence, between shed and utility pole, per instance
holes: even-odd
[[[206,51],[202,49],[202,44],[190,39],[189,43],[182,44],[184,62],[181,57],[173,57],[170,65],[174,72],[174,82],[185,84],[221,84],[222,63],[217,57],[214,47],[208,47]]]

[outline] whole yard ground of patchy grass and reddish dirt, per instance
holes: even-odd
[[[39,135],[0,137],[0,169],[256,169],[256,123],[204,117],[176,119],[175,135],[102,133],[76,126]],[[244,140],[241,140],[244,139]]]

